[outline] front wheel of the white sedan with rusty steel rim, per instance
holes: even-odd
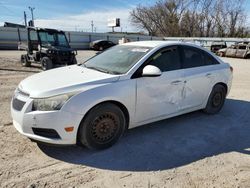
[[[104,103],[92,108],[83,119],[78,131],[78,141],[89,149],[106,149],[123,135],[126,119],[115,104]]]

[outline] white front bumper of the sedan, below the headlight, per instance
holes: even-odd
[[[16,108],[13,104],[14,100],[22,101],[24,105],[21,108]],[[63,145],[76,144],[77,130],[82,119],[81,114],[62,110],[32,111],[32,103],[33,99],[21,94],[15,94],[11,101],[13,125],[18,132],[40,142]],[[65,127],[74,127],[74,129],[72,132],[67,132]],[[41,136],[37,131],[34,131],[35,129],[54,130],[59,136]]]

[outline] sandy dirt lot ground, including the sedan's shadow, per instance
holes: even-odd
[[[93,54],[80,51],[78,61]],[[145,125],[90,151],[36,144],[15,130],[13,91],[40,71],[21,67],[19,57],[0,51],[0,187],[250,187],[250,60],[225,59],[234,80],[221,113]]]

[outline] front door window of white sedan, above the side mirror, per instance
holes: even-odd
[[[177,47],[164,49],[153,56],[149,63],[158,67],[162,72],[172,71],[181,68],[181,61]]]

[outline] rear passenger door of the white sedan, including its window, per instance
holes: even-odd
[[[215,75],[213,57],[197,48],[182,46],[184,88],[182,109],[199,107],[211,91]]]

